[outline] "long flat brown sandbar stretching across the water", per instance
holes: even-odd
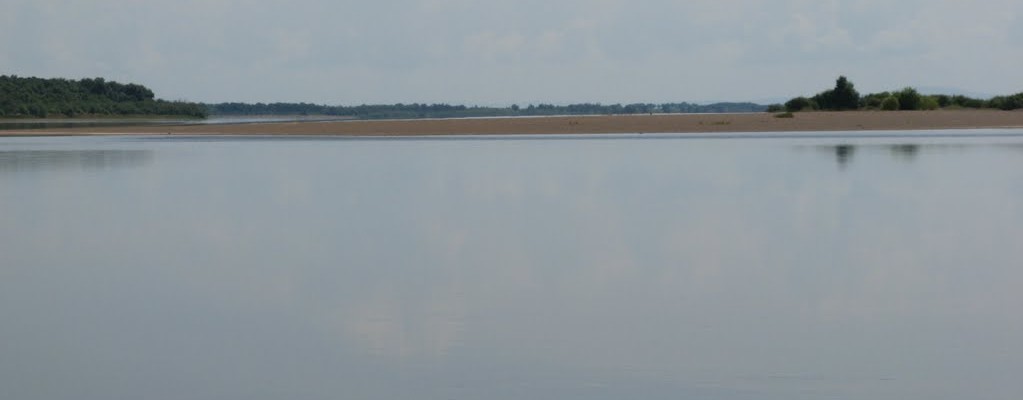
[[[1023,112],[933,112],[587,116],[410,121],[125,126],[0,131],[0,136],[49,135],[516,135],[602,133],[736,133],[1023,128]]]

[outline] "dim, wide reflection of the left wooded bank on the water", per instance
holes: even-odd
[[[104,170],[142,167],[152,161],[152,150],[0,150],[0,173],[34,170]]]

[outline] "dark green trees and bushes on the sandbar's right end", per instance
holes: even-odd
[[[921,94],[917,89],[906,87],[900,90],[861,96],[852,82],[849,82],[845,77],[839,77],[833,89],[822,91],[812,97],[795,97],[785,104],[771,104],[767,110],[795,113],[802,110],[927,110],[938,108],[1021,109],[1023,108],[1023,92],[980,99],[958,94]]]

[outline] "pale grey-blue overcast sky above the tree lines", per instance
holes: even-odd
[[[1019,0],[0,0],[0,75],[191,101],[780,101],[1023,91]]]

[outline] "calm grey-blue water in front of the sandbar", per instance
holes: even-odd
[[[0,398],[1023,398],[1023,131],[926,134],[0,138]]]

